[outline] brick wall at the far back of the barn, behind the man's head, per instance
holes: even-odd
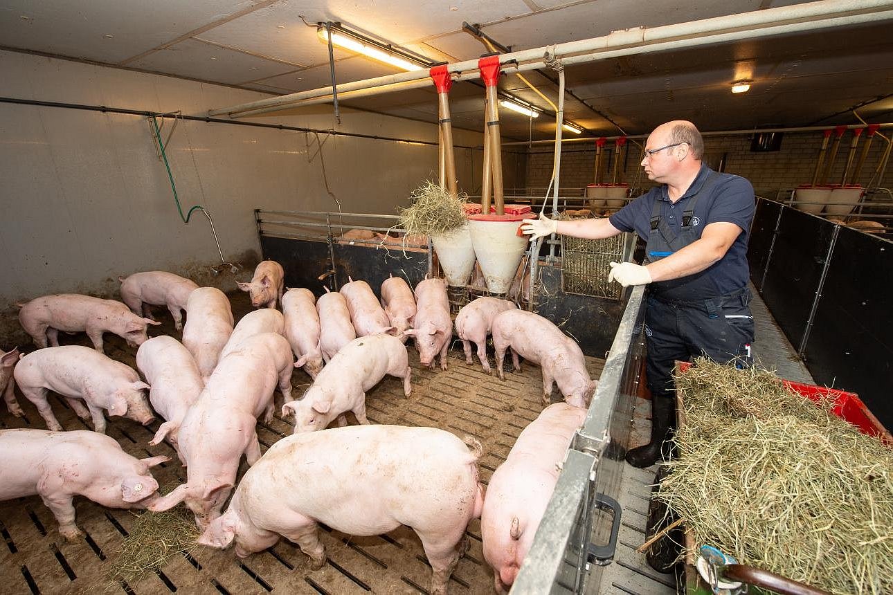
[[[886,133],[889,136],[889,131]],[[849,145],[852,133],[847,132],[840,144],[837,158],[831,170],[829,182],[838,183],[847,163]],[[859,140],[855,150],[853,168],[862,154],[864,135]],[[641,141],[644,143],[644,140]],[[606,146],[607,154],[603,156],[602,182],[612,181],[613,172],[613,145]],[[793,188],[800,184],[808,184],[812,181],[816,158],[822,145],[822,133],[785,133],[781,140],[779,151],[768,153],[752,153],[750,151],[750,135],[738,136],[708,136],[705,138],[705,161],[714,169],[720,161],[725,161],[725,171],[738,174],[750,180],[757,194],[774,197],[779,190]],[[860,184],[867,184],[872,178],[880,158],[886,147],[886,142],[875,135],[871,149],[861,175],[857,180]],[[529,188],[546,187],[552,174],[554,150],[551,146],[538,146],[531,150],[527,160],[526,184]],[[826,152],[825,158],[830,156]],[[625,173],[619,176],[618,181],[627,182],[633,187],[651,186],[651,183],[642,173],[638,165],[640,149],[632,145],[628,151],[625,163]],[[573,143],[565,145],[561,158],[561,187],[568,190],[580,188],[594,181],[596,162],[596,150],[594,143]],[[624,165],[623,163],[621,165]],[[621,168],[623,169],[623,168]],[[822,166],[824,169],[824,166]],[[852,171],[852,169],[851,169]],[[889,165],[880,186],[893,185],[893,163]],[[873,185],[872,185],[873,186]],[[564,194],[564,193],[562,193]]]

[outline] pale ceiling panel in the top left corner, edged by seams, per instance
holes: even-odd
[[[0,7],[0,40],[12,47],[114,64],[253,4],[257,3],[6,0]]]

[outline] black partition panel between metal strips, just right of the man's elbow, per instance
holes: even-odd
[[[761,293],[796,349],[803,340],[833,229],[824,219],[795,209],[785,208],[781,215]]]

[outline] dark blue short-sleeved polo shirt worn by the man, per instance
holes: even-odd
[[[609,218],[611,225],[621,231],[635,231],[639,237],[647,241],[651,232],[651,213],[655,201],[661,201],[661,218],[670,225],[673,232],[678,234],[682,227],[682,213],[689,200],[700,191],[707,176],[712,172],[712,169],[702,164],[695,181],[675,204],[671,204],[665,184],[655,186],[611,215]],[[738,291],[747,286],[747,279],[750,277],[750,270],[747,267],[747,230],[750,228],[751,219],[754,218],[754,186],[740,176],[719,175],[721,178],[707,191],[707,194],[697,199],[695,211],[692,213],[692,233],[700,237],[706,226],[719,222],[734,223],[742,232],[731,244],[725,256],[705,269],[702,277],[705,277],[707,287],[705,289],[702,287],[697,296],[699,299]],[[661,283],[655,283],[654,289],[660,293]],[[692,299],[692,296],[684,294],[684,288],[673,293],[680,294],[666,297]]]

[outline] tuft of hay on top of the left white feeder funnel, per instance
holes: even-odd
[[[468,220],[463,205],[468,196],[449,194],[433,182],[426,181],[413,190],[411,205],[400,209],[400,226],[407,236],[438,236],[462,227]]]

